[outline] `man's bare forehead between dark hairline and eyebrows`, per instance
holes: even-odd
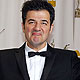
[[[29,18],[50,19],[50,14],[47,10],[32,10],[27,12],[26,19]]]

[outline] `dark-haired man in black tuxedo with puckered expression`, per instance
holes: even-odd
[[[22,28],[27,42],[0,51],[0,80],[80,80],[76,53],[47,43],[54,17],[54,8],[47,1],[24,3]]]

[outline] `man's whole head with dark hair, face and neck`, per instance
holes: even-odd
[[[47,1],[27,1],[22,8],[22,19],[28,46],[37,51],[42,49],[52,32],[53,7]]]

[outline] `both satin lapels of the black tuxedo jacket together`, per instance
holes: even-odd
[[[48,45],[47,52],[49,54],[49,57],[46,57],[43,73],[40,80],[47,79],[49,72],[52,69],[52,65],[54,63],[55,52],[49,45]],[[24,80],[30,80],[27,71],[27,66],[26,66],[26,59],[25,59],[25,44],[19,50],[16,51],[15,56]]]

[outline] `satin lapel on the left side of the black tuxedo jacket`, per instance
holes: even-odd
[[[20,71],[24,77],[24,80],[30,80],[27,72],[26,59],[25,59],[25,50],[22,46],[15,54]]]

